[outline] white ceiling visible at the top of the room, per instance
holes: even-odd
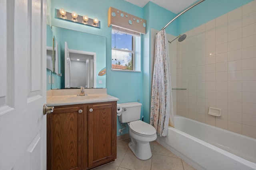
[[[149,1],[178,14],[197,0],[125,0],[136,6],[144,7]]]

